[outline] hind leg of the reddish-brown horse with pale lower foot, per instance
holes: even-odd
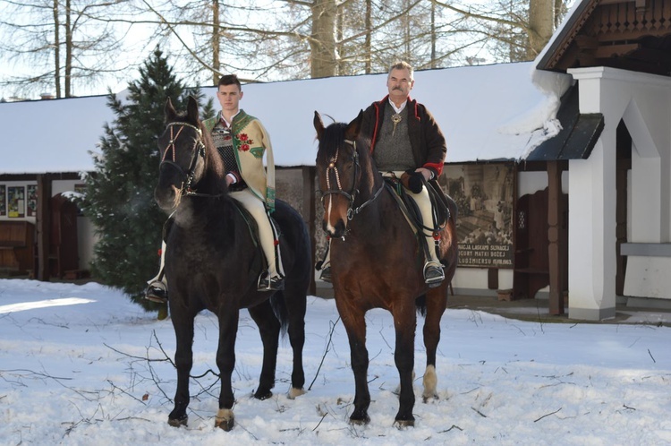
[[[427,349],[427,368],[424,372],[424,402],[437,399],[436,351],[440,341],[440,319],[447,305],[447,284],[429,289],[427,293],[427,315],[424,321],[424,347]]]

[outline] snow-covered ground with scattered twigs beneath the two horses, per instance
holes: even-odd
[[[167,425],[176,373],[169,320],[119,291],[0,279],[0,444],[671,444],[671,329],[650,324],[539,323],[448,310],[438,352],[440,399],[420,399],[416,426],[393,427],[394,331],[368,315],[367,426],[352,426],[353,378],[335,303],[309,297],[307,394],[285,396],[284,339],[272,399],[251,398],[260,370],[256,326],[242,312],[234,389],[236,425],[214,427],[213,375],[191,380],[187,428]],[[423,321],[418,322],[420,329]],[[418,330],[418,333],[421,331]],[[197,320],[193,375],[217,371],[217,320]],[[164,350],[166,354],[164,354]],[[321,365],[323,360],[323,365]]]

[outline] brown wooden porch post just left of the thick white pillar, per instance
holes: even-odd
[[[562,168],[559,161],[548,161],[548,265],[550,296],[548,309],[550,314],[564,314],[564,262],[561,244],[562,224]]]

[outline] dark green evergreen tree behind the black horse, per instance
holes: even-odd
[[[146,309],[157,309],[142,298],[146,281],[158,269],[157,249],[166,214],[154,202],[158,179],[157,137],[166,129],[168,98],[186,109],[188,97],[199,102],[200,89],[186,89],[175,78],[160,49],[140,68],[140,80],[128,85],[121,98],[111,91],[108,107],[115,121],[105,125],[95,171],[86,178],[86,194],[78,203],[98,229],[91,270],[96,279],[122,288]],[[203,118],[214,115],[212,99]]]

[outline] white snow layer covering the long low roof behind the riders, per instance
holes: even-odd
[[[533,66],[415,72],[411,97],[429,108],[445,133],[446,162],[523,159],[556,134],[556,110],[567,75],[545,72],[545,81],[532,81]],[[214,87],[203,90],[215,98]],[[266,126],[276,165],[284,167],[314,166],[315,110],[325,124],[327,116],[349,122],[387,93],[386,73],[247,84],[242,90],[241,107]],[[106,96],[2,103],[0,132],[6,140],[0,173],[90,171],[103,125],[114,118]]]

